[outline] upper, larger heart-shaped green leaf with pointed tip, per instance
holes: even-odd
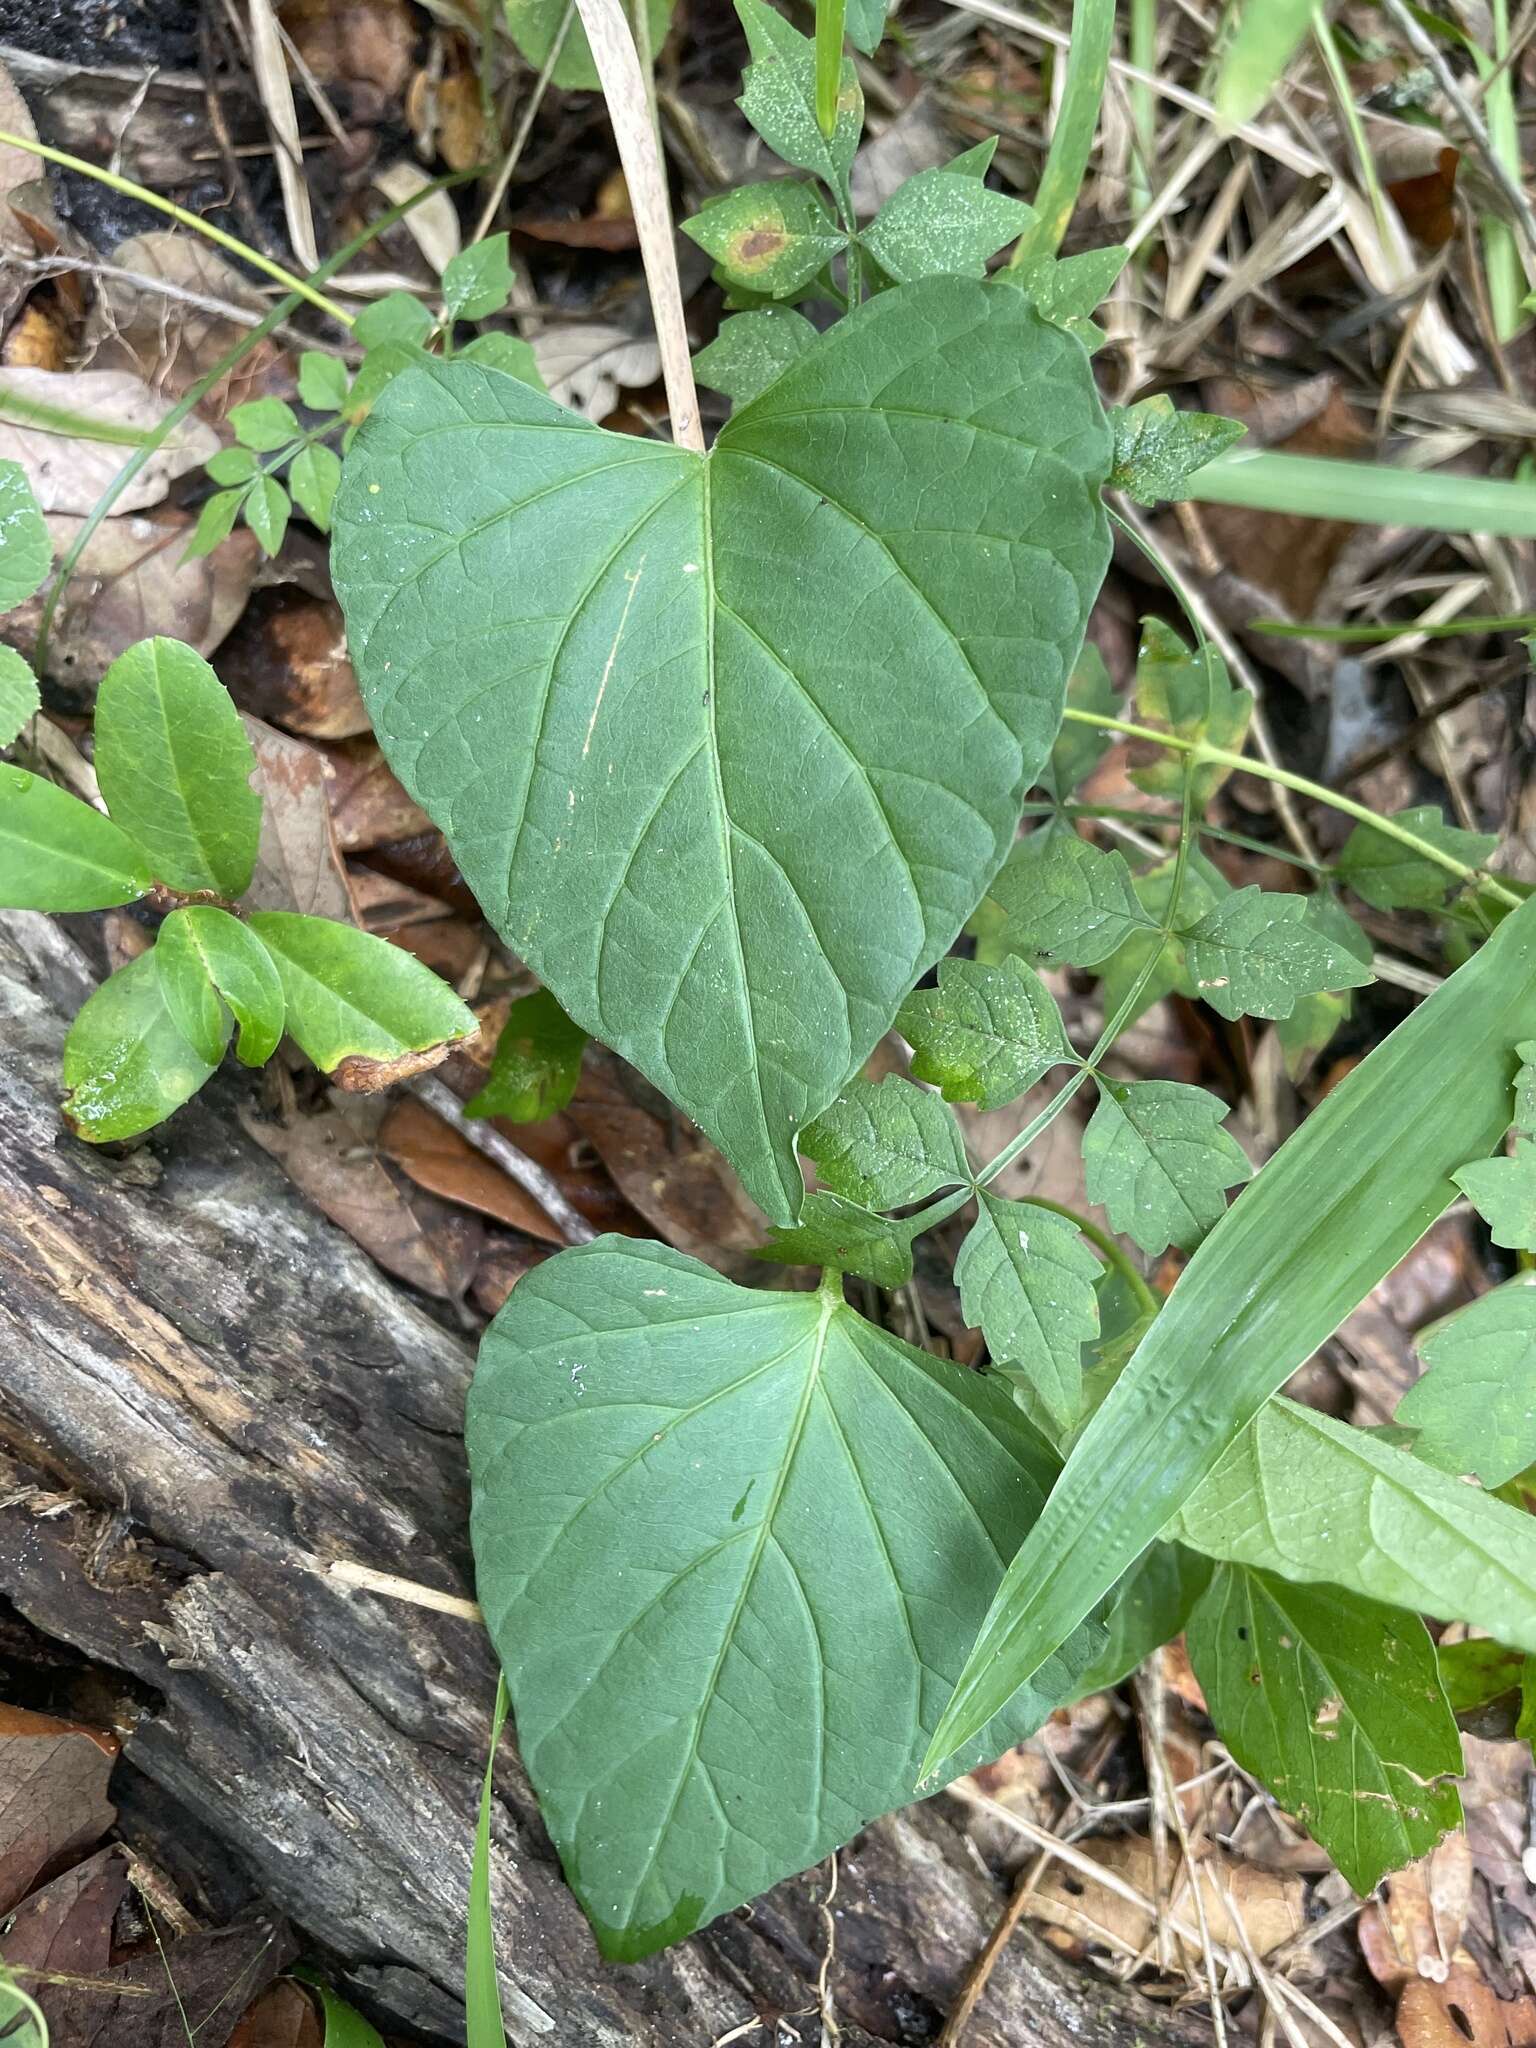
[[[1008,850],[1108,561],[1087,356],[1008,283],[844,319],[707,457],[397,377],[336,502],[389,762],[569,1016],[776,1221]]]

